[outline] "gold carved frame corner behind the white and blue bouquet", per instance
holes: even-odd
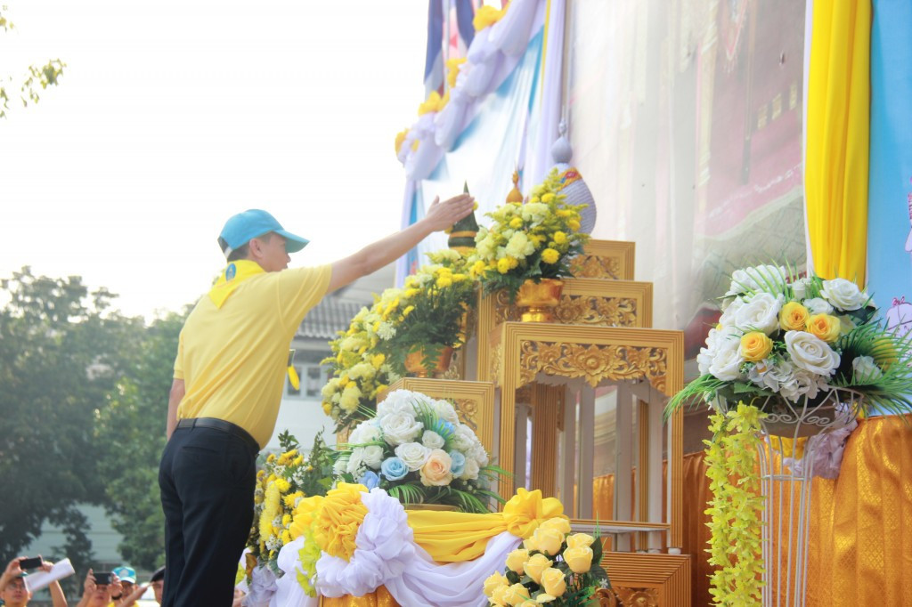
[[[493,453],[494,385],[491,382],[468,382],[456,379],[403,377],[377,397],[382,401],[393,390],[411,390],[433,398],[447,398],[456,404],[460,421],[475,432],[482,445]]]

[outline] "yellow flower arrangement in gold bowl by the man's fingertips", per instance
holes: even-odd
[[[586,205],[566,204],[561,188],[557,170],[552,170],[528,202],[507,202],[486,213],[492,224],[479,230],[469,258],[470,273],[481,280],[485,293],[507,289],[513,301],[526,280],[571,275],[568,262],[588,240],[578,232]]]

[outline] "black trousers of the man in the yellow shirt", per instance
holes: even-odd
[[[254,520],[257,451],[208,427],[177,428],[161,454],[164,607],[231,605]]]

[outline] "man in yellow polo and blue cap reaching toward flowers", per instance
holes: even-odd
[[[306,239],[266,211],[229,219],[228,265],[181,330],[159,485],[165,607],[230,605],[254,517],[255,459],[275,428],[288,345],[326,293],[377,271],[472,211],[435,200],[421,221],[341,261],[287,270]]]

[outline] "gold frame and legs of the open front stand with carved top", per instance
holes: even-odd
[[[532,383],[540,373],[580,378],[593,387],[606,381],[646,380],[668,396],[677,394],[684,385],[684,334],[680,331],[510,322],[492,330],[488,345],[492,360],[487,369],[479,368],[479,379],[490,380],[501,390],[498,463],[507,470],[515,465],[516,390]],[[672,433],[668,446],[668,460],[672,462],[668,545],[680,546],[681,413],[668,423]],[[513,495],[513,491],[513,479],[501,478],[501,495]]]

